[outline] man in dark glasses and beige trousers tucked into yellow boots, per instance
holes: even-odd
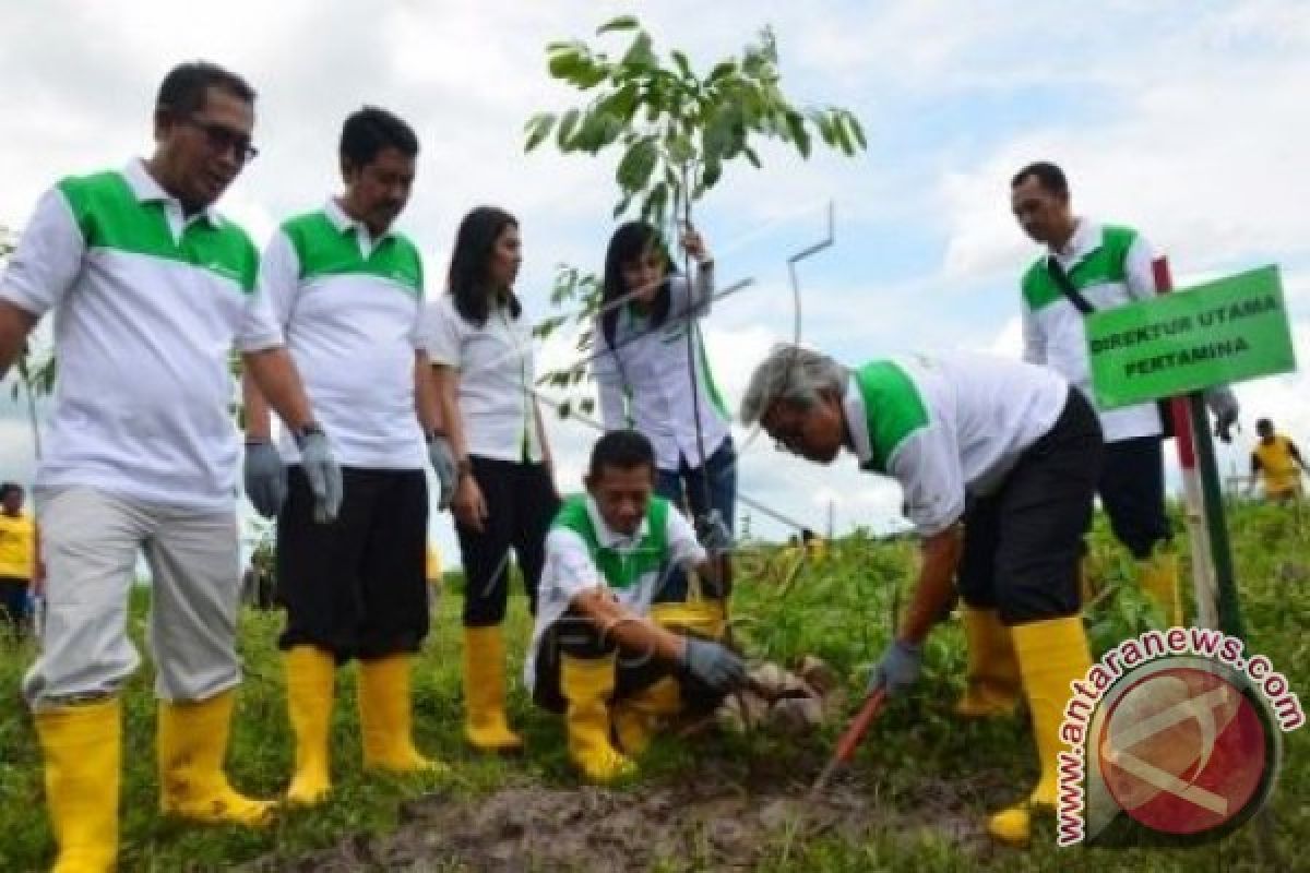
[[[233,346],[297,435],[325,517],[341,474],[254,293],[258,253],[212,208],[254,156],[253,127],[254,92],[240,76],[176,67],[155,105],[155,153],[56,183],[0,277],[0,376],[55,310],[59,393],[34,490],[47,607],[24,692],[60,870],[111,869],[117,855],[139,551],[152,580],[160,808],[241,825],[270,813],[223,771],[240,682]]]

